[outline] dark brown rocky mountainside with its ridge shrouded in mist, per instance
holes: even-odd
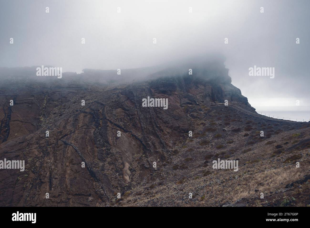
[[[24,172],[0,169],[1,206],[222,206],[256,199],[255,189],[278,189],[306,173],[289,165],[309,163],[309,123],[258,115],[221,61],[124,70],[120,78],[95,70],[38,78],[34,70],[0,69],[0,160],[25,160]],[[136,73],[139,81],[125,80]],[[168,108],[143,107],[147,97],[168,99]],[[277,150],[284,137],[290,144]],[[212,169],[218,157],[239,159],[243,168],[223,175]],[[291,175],[249,189],[250,175],[260,178],[255,169],[275,178],[272,164]],[[224,183],[234,190],[226,193]],[[188,192],[196,197],[188,199]]]

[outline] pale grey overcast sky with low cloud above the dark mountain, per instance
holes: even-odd
[[[309,0],[0,0],[0,67],[79,73],[219,52],[257,111],[310,110],[309,10]],[[254,65],[274,67],[275,77],[249,76]]]

